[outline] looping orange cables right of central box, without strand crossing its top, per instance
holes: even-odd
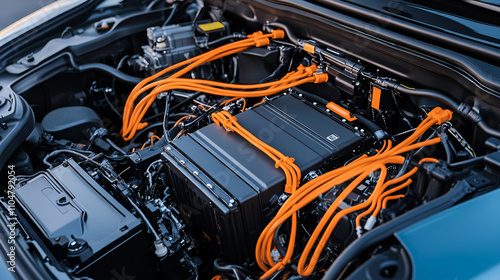
[[[405,152],[439,143],[439,137],[419,143],[414,142],[431,126],[448,121],[451,117],[451,111],[443,110],[439,107],[434,108],[428,114],[427,118],[417,127],[413,134],[397,146],[392,147],[392,143],[388,141],[384,143],[384,147],[378,151],[376,155],[362,156],[344,167],[327,172],[307,182],[296,191],[292,192],[290,197],[279,209],[276,216],[262,231],[259,240],[257,241],[255,257],[259,267],[265,271],[265,273],[261,276],[261,279],[272,275],[274,272],[283,268],[290,262],[294,250],[293,244],[295,244],[293,239],[295,239],[296,236],[296,225],[294,226],[294,224],[296,223],[295,220],[297,211],[311,203],[320,194],[330,190],[333,186],[343,184],[353,179],[325,212],[309,238],[305,248],[301,252],[299,263],[297,265],[297,271],[303,276],[310,275],[314,271],[324,246],[330,238],[337,223],[343,216],[365,208],[368,208],[368,210],[363,212],[360,216],[367,215],[373,211],[379,211],[379,208],[384,204],[384,197],[388,198],[387,195],[408,186],[411,183],[411,180],[408,178],[417,171],[417,169],[414,168],[399,178],[385,181],[387,178],[386,166],[388,164],[403,164],[404,157],[401,156],[401,154]],[[425,161],[435,160],[425,159]],[[367,176],[373,172],[380,172],[380,176],[369,199],[361,204],[354,205],[335,214],[341,202],[349,195],[349,193],[351,193],[361,182],[365,180]],[[405,182],[390,191],[384,192],[384,190],[389,186],[398,184],[402,181]],[[391,197],[391,199],[394,199],[394,197]],[[376,213],[374,214],[376,215]],[[289,235],[289,246],[286,248],[286,256],[283,257],[280,262],[275,263],[271,257],[271,251],[274,248],[273,236],[280,225],[290,218],[292,218],[292,229]],[[356,223],[360,224],[360,220],[361,217],[356,219]],[[313,251],[312,256],[310,255],[311,251]]]

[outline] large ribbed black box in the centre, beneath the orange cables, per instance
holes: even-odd
[[[348,124],[292,95],[236,118],[253,135],[293,157],[303,176],[364,139]],[[244,138],[216,124],[172,141],[162,156],[187,223],[226,260],[251,259],[274,213],[271,201],[283,193],[283,171]]]

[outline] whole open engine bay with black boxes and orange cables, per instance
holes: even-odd
[[[390,226],[497,188],[493,105],[238,7],[103,5],[0,73],[2,221],[42,278],[334,279],[385,229],[336,277],[405,279],[368,265],[407,258]]]

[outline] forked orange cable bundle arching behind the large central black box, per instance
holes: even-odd
[[[237,85],[208,80],[180,78],[183,75],[189,73],[189,71],[204,63],[238,53],[250,47],[266,46],[270,43],[270,38],[281,39],[283,37],[284,32],[282,30],[273,30],[269,34],[263,34],[260,31],[255,32],[251,35],[248,35],[247,39],[229,43],[225,46],[208,51],[191,59],[179,62],[170,67],[167,67],[166,69],[158,72],[151,77],[144,79],[135,86],[125,103],[125,108],[123,111],[123,127],[121,131],[122,138],[128,141],[132,139],[137,130],[143,129],[148,125],[147,123],[141,123],[141,120],[156,97],[162,92],[167,92],[174,89],[182,89],[201,91],[220,96],[235,96],[239,98],[262,97],[275,94],[279,91],[288,89],[293,86],[301,85],[303,83],[326,82],[328,80],[328,75],[326,73],[315,73],[317,70],[316,66],[300,66],[297,72],[290,73],[290,79],[282,79],[276,82],[256,85]],[[178,70],[165,79],[154,81],[155,79],[158,79],[161,76],[180,67],[184,68]],[[150,92],[138,102],[136,102],[136,100],[139,99],[139,97],[145,94],[147,91]]]

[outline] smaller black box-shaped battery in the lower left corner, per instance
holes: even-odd
[[[15,194],[21,225],[59,270],[112,279],[125,267],[128,275],[154,277],[141,220],[72,159],[20,182]]]

